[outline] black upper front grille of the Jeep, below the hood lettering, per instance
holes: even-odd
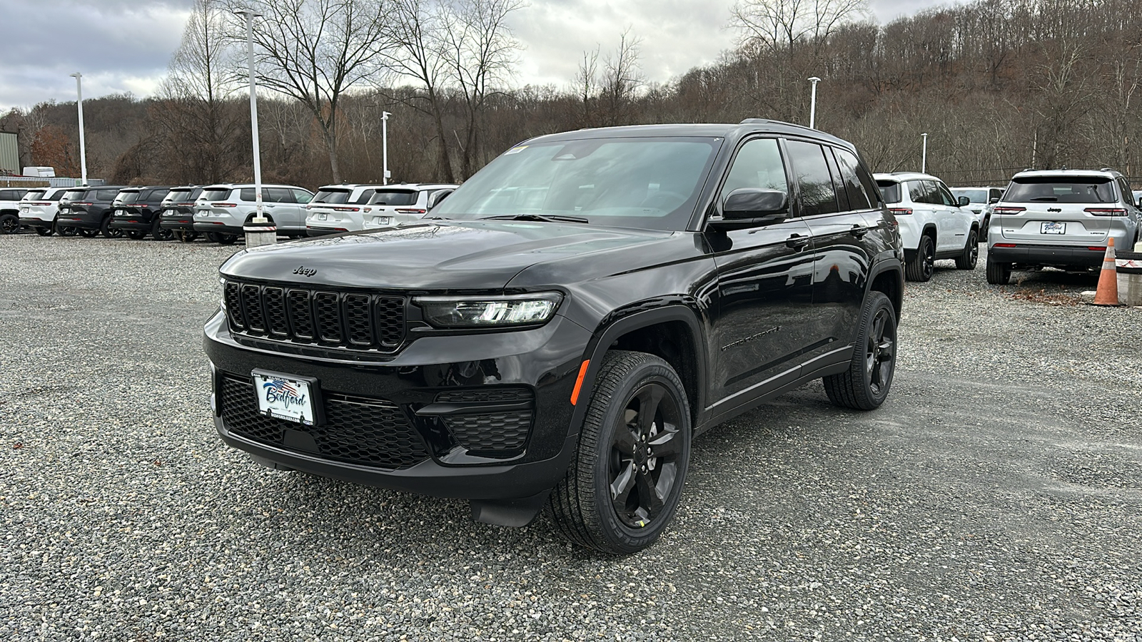
[[[231,280],[224,288],[238,335],[386,353],[404,343],[404,297]]]

